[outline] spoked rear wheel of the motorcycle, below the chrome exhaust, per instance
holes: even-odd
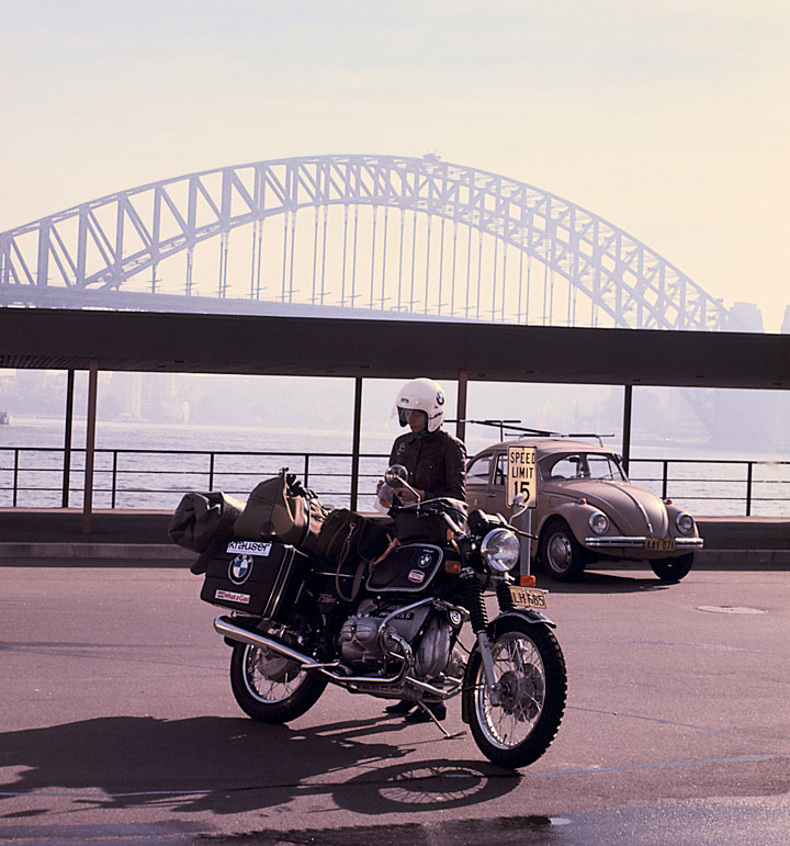
[[[286,723],[317,701],[327,679],[305,673],[268,650],[237,643],[230,658],[230,687],[241,710],[261,723]]]

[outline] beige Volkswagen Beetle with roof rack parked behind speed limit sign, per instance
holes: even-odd
[[[574,582],[600,560],[646,561],[663,582],[688,574],[702,548],[693,518],[672,500],[632,485],[621,458],[567,438],[503,441],[474,455],[466,470],[472,508],[508,517],[508,443],[535,448],[538,501],[531,555],[557,582]]]

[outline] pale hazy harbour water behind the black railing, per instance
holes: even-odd
[[[361,508],[372,508],[372,493],[398,433],[392,424],[364,432],[360,462]],[[494,430],[470,431],[470,455],[498,440]],[[71,443],[69,504],[82,501],[84,422],[76,420]],[[58,507],[63,499],[64,422],[18,418],[0,429],[0,507]],[[95,508],[170,509],[185,490],[224,490],[245,497],[257,482],[287,466],[334,506],[349,503],[349,430],[264,429],[99,421],[97,426]],[[617,449],[613,442],[607,443]],[[15,450],[19,448],[19,452]],[[213,456],[211,453],[214,453]],[[257,454],[250,454],[257,453]],[[692,514],[746,514],[746,462],[752,469],[751,514],[790,516],[790,463],[787,456],[713,453],[691,444],[632,447],[631,478],[663,494],[663,462],[669,460],[667,496]],[[693,462],[693,463],[691,463]],[[740,462],[740,463],[737,463]],[[14,477],[16,483],[14,485]]]

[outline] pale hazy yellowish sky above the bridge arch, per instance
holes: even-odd
[[[790,303],[787,0],[0,0],[0,230],[225,165],[393,154],[611,221]]]

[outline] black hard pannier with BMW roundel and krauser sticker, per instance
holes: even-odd
[[[307,556],[293,546],[232,539],[212,555],[201,599],[285,623],[307,572]]]

